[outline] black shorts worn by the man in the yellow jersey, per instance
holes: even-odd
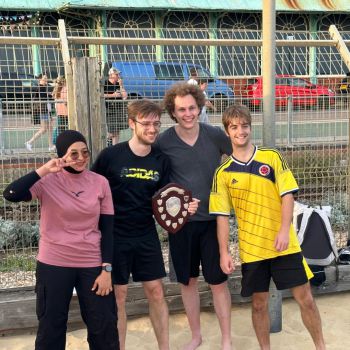
[[[268,292],[271,278],[277,289],[289,289],[305,284],[309,278],[301,253],[242,264],[242,297]]]

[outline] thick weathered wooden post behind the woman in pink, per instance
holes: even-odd
[[[72,59],[72,69],[75,123],[77,130],[88,138],[94,161],[103,148],[105,135],[100,66],[96,57],[79,57]]]

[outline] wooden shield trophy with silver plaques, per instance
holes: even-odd
[[[153,214],[160,226],[176,233],[185,225],[192,194],[179,184],[170,183],[152,197]]]

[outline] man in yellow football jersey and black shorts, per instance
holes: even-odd
[[[268,291],[272,278],[277,289],[291,289],[316,349],[323,350],[321,318],[309,284],[313,275],[291,224],[298,185],[277,150],[252,144],[247,107],[230,106],[222,122],[233,153],[216,170],[209,208],[217,216],[221,269],[226,274],[234,270],[228,252],[233,209],[242,262],[241,294],[252,296],[252,320],[260,348],[270,349]]]

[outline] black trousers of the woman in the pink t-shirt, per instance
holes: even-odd
[[[119,350],[114,293],[91,291],[101,267],[71,268],[37,262],[36,313],[39,320],[36,350],[63,350],[69,304],[76,289],[80,312],[87,326],[90,350]]]

